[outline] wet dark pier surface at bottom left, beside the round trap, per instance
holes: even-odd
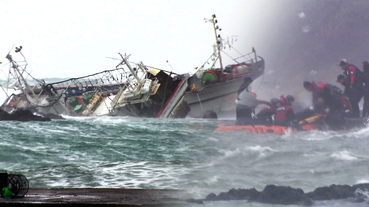
[[[27,206],[182,206],[187,194],[183,190],[120,189],[120,188],[63,188],[29,189],[24,197],[3,198],[1,204]]]

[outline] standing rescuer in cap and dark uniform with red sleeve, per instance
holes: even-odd
[[[352,116],[360,117],[359,101],[363,97],[363,74],[358,67],[349,64],[346,59],[342,59],[338,66],[344,70],[346,76],[345,95],[350,99],[352,105]]]

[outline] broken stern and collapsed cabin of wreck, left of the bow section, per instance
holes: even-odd
[[[21,54],[21,48],[15,52]],[[3,72],[8,75],[1,84],[6,100],[1,108],[7,112],[30,109],[41,115],[176,118],[185,117],[190,110],[183,98],[188,75],[154,69],[142,62],[132,67],[127,55],[121,55],[123,60],[113,70],[56,83],[32,77],[25,70],[25,59],[21,65],[10,53],[6,57],[9,69]]]

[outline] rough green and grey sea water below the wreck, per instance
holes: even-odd
[[[369,182],[369,127],[285,135],[215,133],[221,120],[65,117],[1,122],[0,169],[31,188],[184,189],[194,199],[275,184],[305,193],[331,184]],[[314,206],[368,206],[314,201]],[[205,201],[188,206],[283,206]],[[293,206],[293,205],[290,205]]]

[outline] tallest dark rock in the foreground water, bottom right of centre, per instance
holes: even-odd
[[[266,186],[256,201],[260,203],[283,205],[297,204],[311,206],[314,204],[313,201],[304,194],[302,189],[276,185]]]

